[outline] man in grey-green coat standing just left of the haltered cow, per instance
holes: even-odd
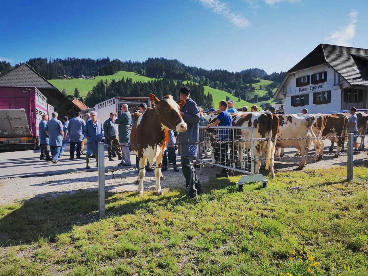
[[[119,142],[121,144],[121,152],[123,153],[123,159],[118,166],[131,166],[132,163],[130,162],[129,140],[132,115],[130,114],[128,105],[126,103],[121,106],[121,111],[123,113],[115,120],[115,123],[119,125]]]

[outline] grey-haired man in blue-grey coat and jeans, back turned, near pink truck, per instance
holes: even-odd
[[[57,159],[60,155],[60,149],[63,141],[63,126],[61,125],[61,122],[57,120],[57,112],[53,112],[51,114],[52,119],[47,122],[46,124],[46,134],[49,135],[49,142],[50,142],[50,149],[51,149],[51,155],[52,160],[51,162],[57,163]]]

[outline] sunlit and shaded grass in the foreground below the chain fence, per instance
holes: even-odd
[[[279,172],[236,192],[212,178],[184,190],[97,191],[0,206],[0,275],[368,275],[368,169]]]

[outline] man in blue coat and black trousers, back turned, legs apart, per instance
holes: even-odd
[[[84,127],[86,123],[81,119],[81,113],[75,112],[75,117],[72,118],[68,124],[68,131],[70,137],[70,160],[74,159],[75,145],[77,144],[77,159],[81,158],[81,143],[84,139]]]

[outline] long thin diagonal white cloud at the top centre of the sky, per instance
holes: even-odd
[[[236,14],[230,10],[226,3],[220,0],[199,0],[206,8],[218,15],[222,15],[238,28],[246,28],[250,22],[241,14]]]

